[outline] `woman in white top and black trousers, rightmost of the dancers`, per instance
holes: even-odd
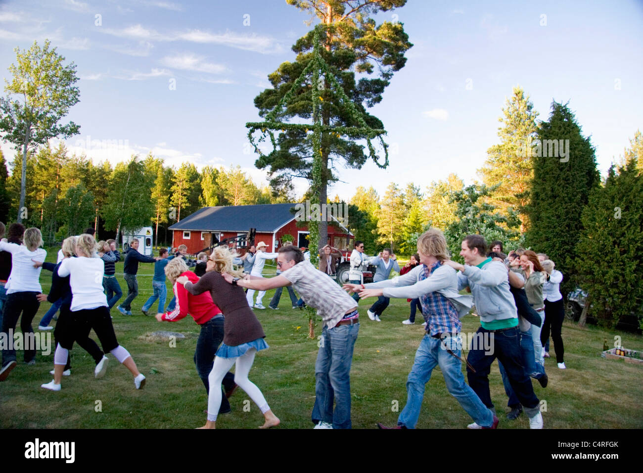
[[[560,283],[563,282],[563,274],[555,270],[554,261],[545,259],[542,263],[547,281],[543,284],[543,297],[545,298],[545,323],[543,331],[540,334],[540,340],[549,342],[549,333],[551,331],[552,340],[554,340],[554,350],[556,351],[556,363],[560,369],[565,369],[565,346],[561,335],[563,329],[563,320],[565,320],[565,304],[563,295],[560,292]],[[544,345],[544,342],[543,342]],[[549,353],[545,353],[549,357]]]

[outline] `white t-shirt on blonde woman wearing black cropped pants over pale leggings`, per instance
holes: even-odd
[[[103,275],[105,263],[96,258],[79,256],[67,258],[58,268],[60,277],[69,277],[71,286],[71,310],[95,309],[107,307],[107,297],[103,292]]]

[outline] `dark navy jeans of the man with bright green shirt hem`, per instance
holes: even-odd
[[[507,371],[507,375],[509,375],[509,383],[516,396],[518,396],[518,401],[525,407],[529,417],[535,416],[538,413],[539,401],[536,394],[534,394],[531,380],[522,366],[520,331],[518,331],[518,327],[490,331],[481,326],[476,333],[493,334],[494,349],[493,353],[487,353],[478,343],[476,349],[473,349],[472,346],[469,350],[467,361],[476,370],[474,373],[467,366],[467,379],[471,389],[478,394],[484,405],[489,409],[493,408],[491,394],[489,393],[489,373],[491,372],[493,360],[498,358],[498,361],[502,362]],[[531,414],[529,411],[532,411]]]

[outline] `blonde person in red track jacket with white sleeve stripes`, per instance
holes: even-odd
[[[210,371],[212,371],[215,353],[217,353],[217,349],[219,349],[219,345],[221,345],[224,336],[223,314],[214,302],[212,302],[212,296],[209,292],[192,295],[187,292],[185,287],[176,283],[176,280],[181,276],[187,277],[191,283],[199,281],[199,277],[188,270],[188,265],[183,259],[177,258],[168,261],[168,264],[164,266],[163,270],[170,280],[170,283],[172,283],[177,303],[174,310],[168,311],[167,313],[157,313],[156,320],[159,322],[162,320],[178,322],[189,313],[197,325],[201,327],[199,339],[197,339],[197,346],[194,351],[194,364],[197,367],[197,374],[203,382],[206,393],[210,394],[208,376],[210,375]],[[223,384],[226,386],[226,395],[221,398],[219,414],[227,414],[231,410],[228,397],[230,397],[230,394],[237,386],[234,382],[234,375],[230,372],[226,373]]]

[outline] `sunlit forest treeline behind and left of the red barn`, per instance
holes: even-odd
[[[240,167],[175,169],[151,154],[128,162],[93,163],[84,154],[68,156],[64,144],[42,147],[28,156],[26,201],[19,209],[22,160],[8,165],[0,153],[0,221],[39,227],[46,244],[95,227],[98,237],[155,227],[157,243],[169,243],[167,227],[205,206],[292,201],[284,190],[259,186]]]

